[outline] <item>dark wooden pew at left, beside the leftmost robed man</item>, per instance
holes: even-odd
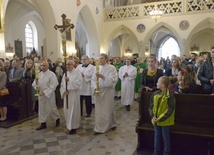
[[[0,122],[0,127],[8,128],[37,116],[33,110],[32,87],[30,81],[7,82],[6,87],[9,89],[10,93],[5,96],[5,103],[8,109],[7,120]],[[62,104],[63,100],[60,99],[57,103],[57,107],[61,108]]]

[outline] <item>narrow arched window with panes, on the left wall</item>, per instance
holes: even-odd
[[[26,52],[30,53],[31,50],[33,49],[33,44],[34,43],[34,39],[33,39],[33,29],[30,26],[30,24],[26,24],[25,26],[25,46],[26,46]]]

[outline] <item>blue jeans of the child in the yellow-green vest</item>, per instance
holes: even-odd
[[[161,138],[163,138],[164,149],[163,154],[170,153],[170,137],[169,137],[169,126],[158,126],[154,125],[155,137],[154,137],[154,151],[161,151]]]

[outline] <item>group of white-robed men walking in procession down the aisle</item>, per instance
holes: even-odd
[[[118,93],[116,99],[121,97],[121,104],[130,111],[139,67],[131,65],[130,59],[125,60],[125,63],[117,61],[119,65],[111,65],[106,54],[100,54],[96,62],[94,66],[88,56],[84,55],[82,64],[76,66],[73,59],[68,59],[61,83],[58,83],[56,75],[49,70],[49,63],[41,62],[38,77],[32,84],[39,91],[38,116],[41,125],[36,130],[47,128],[46,123],[49,119],[55,121],[56,127],[60,125],[55,98],[58,84],[69,134],[75,134],[81,125],[81,117],[84,117],[83,103],[86,104],[86,117],[91,117],[92,101],[95,104],[94,135],[116,130],[115,91]]]

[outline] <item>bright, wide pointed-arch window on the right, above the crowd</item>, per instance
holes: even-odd
[[[167,36],[163,38],[162,43],[160,45],[160,49],[158,51],[158,59],[163,58],[171,58],[172,55],[180,56],[180,48],[177,41],[171,37]]]

